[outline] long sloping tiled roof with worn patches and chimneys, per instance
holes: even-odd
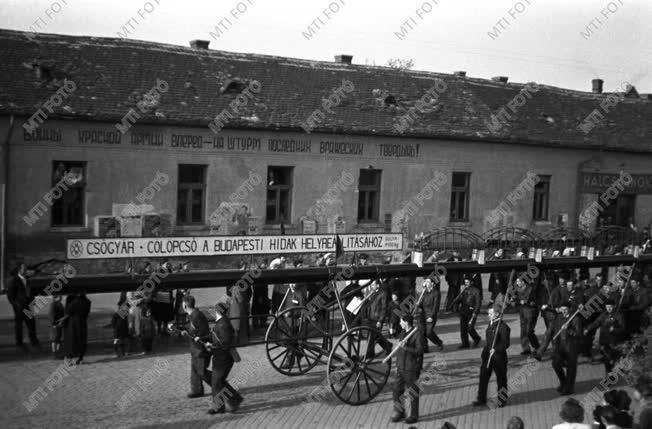
[[[297,130],[343,79],[355,89],[326,113],[314,131],[504,141],[566,147],[652,152],[652,101],[626,98],[591,132],[578,129],[606,94],[540,85],[532,99],[500,129],[491,115],[525,84],[388,67],[298,60],[193,49],[135,40],[0,30],[0,114],[31,116],[62,84],[77,89],[51,117],[119,122],[156,80],[169,90],[139,123],[207,126],[238,92],[222,92],[231,79],[257,80],[262,89],[226,128]],[[40,76],[36,70],[42,67]],[[403,133],[400,117],[436,79],[446,90]],[[392,95],[396,104],[384,102]],[[511,114],[511,112],[510,112]]]

